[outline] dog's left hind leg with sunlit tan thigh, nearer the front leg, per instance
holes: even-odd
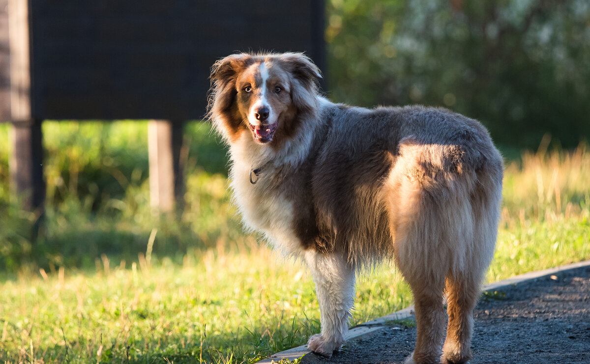
[[[444,240],[448,224],[441,223],[438,200],[418,181],[403,176],[392,173],[386,196],[395,261],[414,294],[416,347],[405,363],[440,363],[447,323],[444,284],[453,249]]]

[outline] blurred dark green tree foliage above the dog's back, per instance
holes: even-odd
[[[494,139],[590,135],[590,1],[328,0],[329,96],[442,105]]]

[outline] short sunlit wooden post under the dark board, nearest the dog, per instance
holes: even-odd
[[[158,212],[181,209],[184,200],[183,166],[180,162],[183,123],[150,120],[148,124],[150,203]]]

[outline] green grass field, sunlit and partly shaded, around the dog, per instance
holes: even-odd
[[[185,210],[149,207],[145,123],[44,124],[47,216],[16,207],[0,125],[0,361],[251,363],[319,332],[311,277],[241,232],[224,151],[186,128]],[[510,161],[487,279],[590,259],[590,152]],[[352,324],[411,305],[391,266],[358,279]]]

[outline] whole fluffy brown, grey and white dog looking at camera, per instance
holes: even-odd
[[[406,362],[466,363],[496,241],[499,152],[475,120],[442,108],[333,104],[319,95],[320,77],[299,53],[213,65],[209,118],[230,146],[244,223],[309,266],[322,324],[313,352],[332,356],[345,341],[355,272],[394,260],[415,300]]]

